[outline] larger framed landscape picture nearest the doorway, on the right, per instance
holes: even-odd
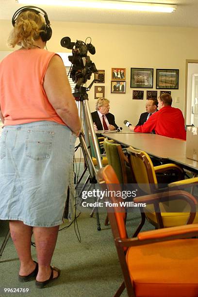
[[[179,89],[179,69],[156,69],[156,89]]]

